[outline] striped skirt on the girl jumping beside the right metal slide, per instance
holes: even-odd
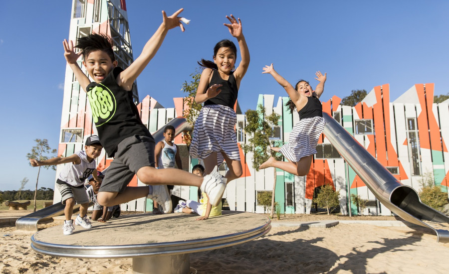
[[[301,119],[294,125],[288,143],[279,150],[287,159],[298,162],[305,156],[316,153],[316,144],[323,133],[325,121],[322,117]]]

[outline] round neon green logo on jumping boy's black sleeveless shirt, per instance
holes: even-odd
[[[116,104],[112,92],[104,85],[98,84],[88,93],[90,108],[92,109],[92,118],[95,126],[108,122],[115,114]]]

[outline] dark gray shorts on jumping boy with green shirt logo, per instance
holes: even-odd
[[[140,168],[154,167],[154,147],[153,137],[131,136],[122,140],[98,191],[124,191]]]

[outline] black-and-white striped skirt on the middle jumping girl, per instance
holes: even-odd
[[[237,116],[231,108],[222,105],[204,106],[195,122],[190,155],[203,160],[215,151],[218,165],[225,160],[221,152],[232,160],[240,160],[234,130],[236,122]]]

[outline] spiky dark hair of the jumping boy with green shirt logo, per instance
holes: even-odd
[[[83,60],[86,61],[87,56],[92,51],[101,50],[106,52],[107,55],[111,58],[111,61],[115,61],[114,51],[112,50],[113,42],[111,37],[92,33],[84,37],[78,38],[78,44],[75,46],[82,50]]]

